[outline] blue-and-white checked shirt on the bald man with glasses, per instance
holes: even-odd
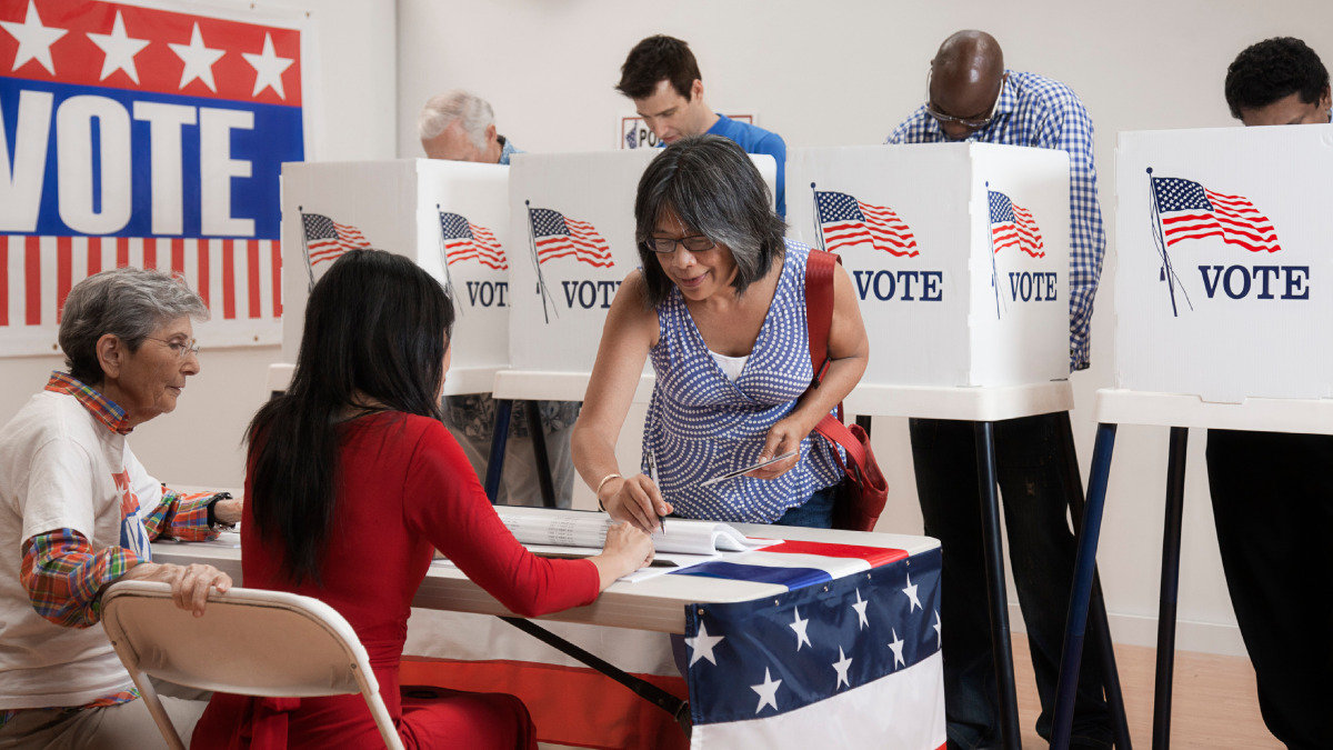
[[[1092,156],[1092,119],[1065,84],[1036,73],[1005,71],[1009,80],[994,119],[969,141],[1060,148],[1069,153],[1069,368],[1089,362],[1088,326],[1101,278],[1106,234],[1097,203],[1097,167]],[[940,123],[920,107],[885,143],[948,141]]]

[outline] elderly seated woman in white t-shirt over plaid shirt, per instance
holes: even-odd
[[[53,372],[0,434],[0,747],[161,746],[91,626],[115,581],[171,583],[196,615],[209,589],[231,587],[212,566],[153,563],[149,542],[216,536],[240,500],[164,488],[125,440],[176,408],[199,372],[192,319],[208,310],[167,274],[117,268],[80,282],[61,315],[69,372]],[[204,703],[164,702],[188,737]]]

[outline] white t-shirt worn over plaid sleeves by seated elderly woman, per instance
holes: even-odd
[[[19,581],[23,542],[56,528],[148,559],[161,484],[75,396],[43,391],[0,432],[0,710],[81,706],[133,687],[101,626],[61,627]],[[121,523],[121,503],[135,516]]]

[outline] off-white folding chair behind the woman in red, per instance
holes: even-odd
[[[365,647],[333,607],[309,597],[232,589],[204,617],[177,609],[171,586],[121,581],[103,597],[103,626],[167,745],[184,749],[148,677],[265,698],[365,698],[385,746],[401,750]]]

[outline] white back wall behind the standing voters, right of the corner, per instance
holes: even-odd
[[[520,148],[615,148],[616,119],[633,109],[613,91],[620,64],[652,33],[690,43],[714,109],[756,111],[789,147],[882,143],[925,97],[938,43],[960,28],[986,29],[1010,68],[1072,85],[1097,127],[1108,268],[1093,318],[1094,364],[1073,378],[1074,434],[1086,472],[1093,394],[1113,383],[1116,132],[1234,124],[1222,80],[1236,53],[1260,39],[1294,35],[1333,64],[1330,21],[1333,7],[1317,0],[400,0],[397,153],[421,155],[417,109],[453,87],[489,99],[500,132]],[[625,434],[637,439],[637,428]],[[1213,536],[1204,434],[1190,438],[1180,643],[1240,654]],[[880,528],[918,532],[905,423],[878,420],[874,447],[893,486]],[[1098,555],[1117,641],[1154,642],[1165,471],[1166,430],[1120,430]]]

